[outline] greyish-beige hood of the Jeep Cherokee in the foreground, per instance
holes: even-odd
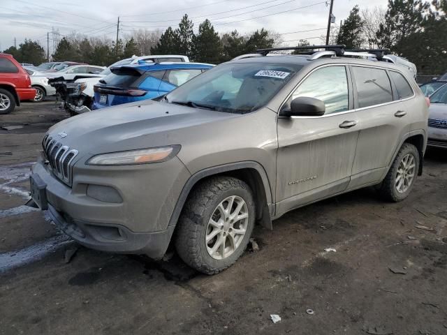
[[[191,132],[200,132],[206,124],[240,116],[144,101],[80,114],[55,124],[48,133],[80,154],[91,155],[183,144]]]

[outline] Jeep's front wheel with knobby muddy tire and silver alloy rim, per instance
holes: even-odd
[[[175,248],[187,265],[217,274],[244,253],[254,228],[249,186],[233,177],[213,177],[196,187],[179,218]]]

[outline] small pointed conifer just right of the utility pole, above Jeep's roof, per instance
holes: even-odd
[[[362,25],[363,20],[360,17],[360,8],[354,6],[349,13],[348,18],[344,20],[341,25],[338,36],[337,44],[344,44],[349,49],[359,49],[362,47]]]

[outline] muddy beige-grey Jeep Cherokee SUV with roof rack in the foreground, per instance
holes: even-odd
[[[240,257],[255,222],[365,186],[403,200],[422,172],[424,95],[376,50],[319,48],[258,50],[159,101],[61,121],[32,198],[84,246],[158,259],[172,239],[206,274]]]

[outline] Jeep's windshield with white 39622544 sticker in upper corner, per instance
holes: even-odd
[[[170,92],[166,100],[219,112],[252,112],[268,103],[301,68],[296,64],[222,64]]]

